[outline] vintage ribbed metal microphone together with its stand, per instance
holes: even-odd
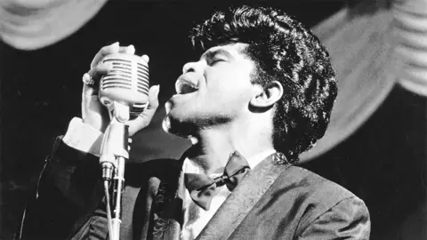
[[[117,52],[104,57],[112,64],[101,78],[99,98],[109,109],[110,123],[101,145],[100,164],[104,180],[109,222],[109,238],[118,240],[120,232],[121,197],[125,185],[125,159],[129,158],[127,121],[141,114],[149,100],[149,63],[147,58]],[[113,187],[111,216],[109,186]]]

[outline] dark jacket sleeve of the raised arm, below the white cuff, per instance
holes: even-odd
[[[59,137],[28,199],[18,239],[66,239],[101,204],[98,157],[68,147]]]

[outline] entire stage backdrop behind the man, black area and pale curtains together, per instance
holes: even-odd
[[[0,187],[8,194],[1,202],[2,226],[16,224],[54,136],[79,115],[80,79],[93,54],[117,40],[149,53],[151,81],[162,85],[165,101],[181,64],[193,57],[185,29],[229,4],[220,2],[0,0],[0,37],[8,44],[0,49]],[[366,200],[373,239],[424,239],[427,145],[420,123],[426,118],[427,0],[344,2],[259,1],[310,26],[337,73],[330,127],[302,162]],[[153,124],[136,136],[131,154],[142,156],[136,161],[177,157],[189,146],[161,130],[164,114],[159,109]]]

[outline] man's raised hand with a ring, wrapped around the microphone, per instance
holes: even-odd
[[[133,45],[127,47],[119,46],[118,43],[104,46],[96,53],[91,63],[91,69],[88,74],[93,78],[94,84],[84,84],[82,92],[82,119],[85,124],[90,124],[94,129],[105,132],[109,125],[109,112],[105,106],[101,104],[98,98],[99,82],[102,76],[109,73],[112,65],[109,63],[101,63],[101,60],[115,52],[126,52],[134,54],[135,48]],[[142,56],[147,61],[147,55]],[[140,116],[128,121],[129,135],[133,136],[136,132],[145,128],[151,122],[158,107],[158,92],[159,86],[155,85],[149,89],[149,106],[141,113]]]

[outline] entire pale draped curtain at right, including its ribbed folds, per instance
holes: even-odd
[[[313,28],[331,54],[339,92],[324,138],[302,161],[355,132],[395,82],[427,96],[427,0],[393,1],[391,10],[372,14],[347,11]]]

